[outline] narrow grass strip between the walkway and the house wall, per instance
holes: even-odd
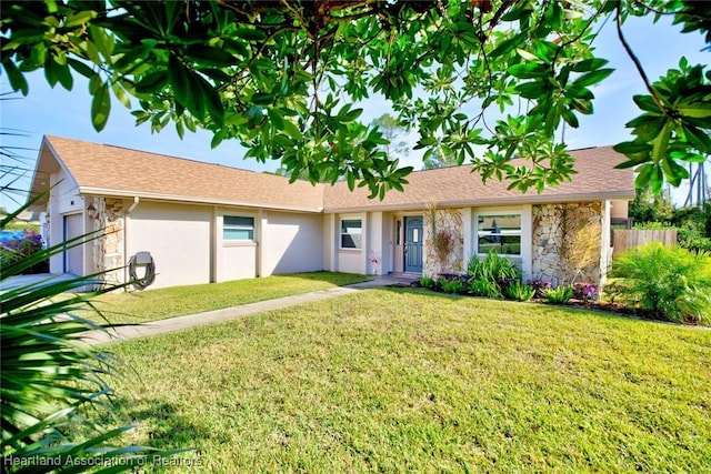
[[[92,302],[110,323],[146,323],[310,291],[327,290],[365,280],[368,276],[351,273],[294,273],[226,283],[112,293],[96,297]],[[97,322],[106,322],[90,311],[80,312],[80,315]]]

